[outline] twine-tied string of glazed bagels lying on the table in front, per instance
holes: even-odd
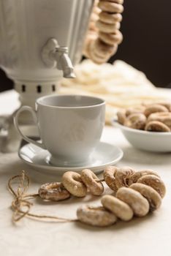
[[[56,222],[82,222],[97,227],[107,227],[133,217],[144,217],[161,206],[166,187],[154,170],[134,170],[132,167],[108,166],[104,178],[99,179],[93,171],[84,169],[80,173],[68,171],[61,182],[42,184],[36,194],[27,194],[30,179],[24,171],[9,179],[8,189],[12,193],[12,220],[18,222],[23,217]],[[18,186],[16,186],[16,181]],[[104,194],[104,183],[113,194]],[[14,189],[15,187],[15,189]],[[111,191],[112,192],[112,191]],[[49,216],[31,212],[31,199],[39,197],[54,203],[69,197],[86,197],[87,194],[102,196],[100,206],[80,206],[77,218]]]

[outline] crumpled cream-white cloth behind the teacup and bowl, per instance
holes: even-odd
[[[75,75],[75,79],[61,80],[59,93],[88,94],[105,99],[107,123],[121,108],[170,99],[166,91],[156,89],[143,72],[124,61],[97,65],[85,60],[75,67]]]

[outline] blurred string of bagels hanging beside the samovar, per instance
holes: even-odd
[[[83,54],[96,64],[107,62],[118,50],[123,36],[123,0],[97,0],[91,14]]]

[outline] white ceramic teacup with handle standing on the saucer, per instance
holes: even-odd
[[[42,143],[20,131],[18,118],[29,111],[39,129]],[[47,149],[50,163],[57,166],[85,165],[102,135],[105,102],[97,97],[55,95],[37,99],[36,111],[21,107],[15,115],[15,127],[28,143]]]

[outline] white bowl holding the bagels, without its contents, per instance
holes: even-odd
[[[121,129],[126,140],[134,148],[153,152],[171,152],[171,132],[147,132],[125,127],[115,120],[112,123],[113,126]]]

